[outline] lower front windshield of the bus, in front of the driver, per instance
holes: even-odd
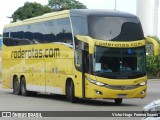
[[[96,46],[93,55],[93,74],[115,79],[142,77],[146,75],[145,48]]]

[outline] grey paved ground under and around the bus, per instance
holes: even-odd
[[[160,99],[159,89],[160,80],[150,80],[146,98],[125,99],[122,105],[117,106],[113,100],[79,100],[78,103],[72,104],[67,102],[64,96],[38,94],[37,96],[23,97],[12,94],[10,89],[2,89],[0,84],[0,111],[141,111],[146,104]],[[64,118],[58,119],[63,120]],[[94,119],[96,120],[96,118]],[[105,118],[101,117],[101,119]],[[117,118],[111,119],[116,120]],[[69,118],[65,118],[65,120],[69,120]]]

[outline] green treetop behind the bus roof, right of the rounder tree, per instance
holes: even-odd
[[[53,11],[87,8],[83,3],[76,0],[49,0],[48,6]]]

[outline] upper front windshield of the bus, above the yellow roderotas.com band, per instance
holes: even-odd
[[[132,41],[144,38],[136,17],[89,16],[89,35],[94,39]]]

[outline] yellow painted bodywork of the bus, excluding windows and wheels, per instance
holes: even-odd
[[[37,23],[46,20],[59,19],[69,16],[69,11],[50,13],[40,17],[31,18],[22,22],[11,23],[5,28],[20,26],[24,24]],[[104,47],[128,48],[144,46],[144,40],[132,42],[112,42],[92,39],[89,36],[76,36],[78,40],[89,44],[89,53],[94,54],[95,45]],[[13,76],[16,75],[20,81],[25,76],[26,84],[30,86],[60,88],[63,95],[66,94],[66,80],[72,79],[75,87],[75,96],[82,98],[82,73],[75,68],[74,49],[63,44],[34,44],[24,46],[6,47],[2,45],[2,72],[3,88],[12,88]],[[59,50],[57,53],[56,50]],[[49,52],[50,51],[50,52]],[[53,54],[50,54],[53,53]],[[146,81],[146,76],[136,79],[116,80],[95,77],[90,74],[85,76],[109,85],[136,85]],[[86,98],[117,98],[117,94],[127,94],[127,98],[143,98],[146,93],[140,92],[146,89],[146,85],[133,90],[112,90],[90,83],[85,79]],[[95,90],[102,91],[98,95]],[[47,90],[46,90],[47,91]],[[52,91],[50,91],[52,92]]]

